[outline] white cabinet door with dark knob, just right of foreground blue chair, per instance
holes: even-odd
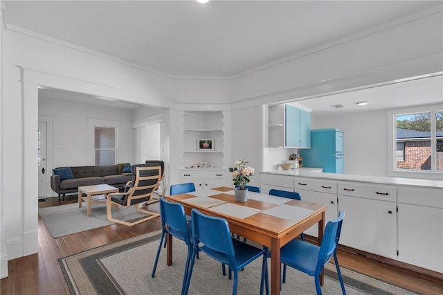
[[[338,195],[338,210],[345,211],[340,244],[397,259],[395,202]]]

